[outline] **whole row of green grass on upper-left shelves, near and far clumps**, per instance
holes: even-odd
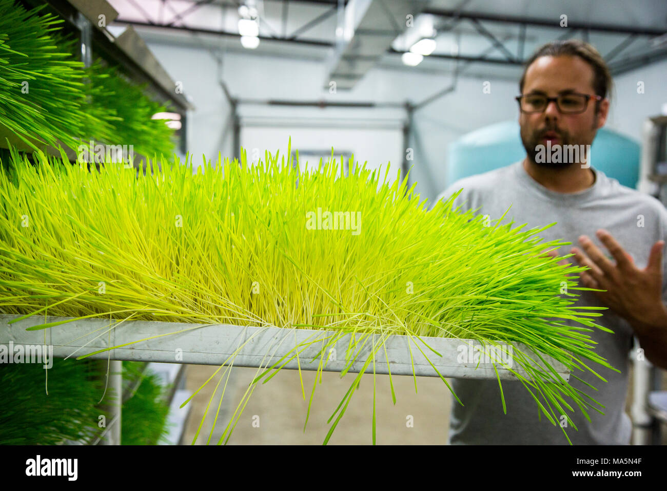
[[[173,130],[151,120],[165,106],[101,60],[85,68],[61,33],[63,20],[43,7],[0,0],[0,145],[9,137],[33,150],[62,144],[76,152],[94,140],[170,154]]]

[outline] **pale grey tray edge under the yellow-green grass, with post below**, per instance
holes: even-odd
[[[0,315],[0,343],[9,345],[51,345],[53,356],[70,357],[91,355],[93,359],[107,360],[111,363],[121,363],[121,360],[149,361],[152,363],[179,363],[199,365],[229,365],[236,367],[270,367],[279,363],[284,369],[317,370],[321,349],[320,343],[332,331],[311,331],[308,329],[285,329],[279,327],[251,327],[237,325],[201,325],[191,323],[174,323],[158,321],[112,321],[109,319],[89,318],[71,320],[72,317],[42,317],[35,315],[17,321],[19,315]],[[71,321],[70,321],[71,320]],[[10,321],[15,321],[10,324]],[[27,331],[28,327],[41,323],[70,321],[64,325],[47,327],[43,330]],[[342,371],[349,364],[346,351],[350,345],[350,334],[339,339],[326,353],[326,363],[321,369],[325,371]],[[518,366],[508,369],[492,359],[482,356],[465,361],[460,360],[462,347],[468,349],[477,345],[477,341],[466,339],[450,339],[440,337],[424,337],[423,342],[410,339],[407,336],[391,335],[385,340],[385,348],[376,353],[375,367],[368,365],[364,369],[364,361],[371,352],[371,343],[366,343],[358,353],[354,363],[349,367],[350,373],[373,372],[378,374],[391,373],[392,375],[416,375],[421,377],[456,377],[474,379],[516,380],[516,373],[528,376],[528,373]],[[301,343],[311,343],[299,353],[298,359],[289,359],[294,354],[295,346]],[[440,353],[437,356],[432,349]],[[302,346],[303,346],[302,345]],[[101,351],[103,349],[107,351]],[[569,381],[570,372],[562,363],[540,353],[544,361],[538,361],[533,351],[524,345],[516,345],[524,355],[535,360],[535,364],[544,368],[549,363],[555,371]],[[96,353],[97,352],[97,353]],[[428,353],[428,357],[424,354]],[[482,351],[484,353],[484,351]],[[284,358],[283,358],[284,357]],[[311,360],[315,362],[311,363]],[[496,358],[498,359],[498,358]],[[284,362],[284,364],[283,364]],[[181,369],[173,370],[177,377],[182,377]],[[497,372],[496,372],[497,369]],[[111,368],[113,371],[113,367]],[[516,373],[514,373],[516,372]],[[115,383],[119,384],[120,377]],[[174,383],[174,390],[179,393],[178,381]],[[180,389],[177,399],[187,398]],[[175,408],[173,395],[171,407]],[[178,408],[175,418],[187,419],[189,407]],[[112,418],[119,422],[121,414],[118,410]],[[182,431],[182,430],[181,430]],[[107,428],[107,435],[103,439],[105,444],[119,442],[120,424],[111,424]],[[171,442],[176,444],[182,434],[171,436]]]

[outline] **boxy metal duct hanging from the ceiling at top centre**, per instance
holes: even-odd
[[[336,48],[324,87],[349,90],[380,61],[392,41],[413,25],[429,0],[350,0],[340,3]],[[412,15],[412,18],[408,17]]]

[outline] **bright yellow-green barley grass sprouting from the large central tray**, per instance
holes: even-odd
[[[601,314],[573,307],[583,288],[568,273],[584,268],[542,253],[566,244],[540,240],[551,225],[485,226],[472,211],[452,210],[454,196],[429,209],[407,176],[388,180],[388,167],[351,163],[341,176],[342,166],[331,160],[300,172],[268,152],[250,165],[242,152],[240,163],[218,156],[197,172],[191,162],[163,158],[161,172],[137,176],[120,165],[89,172],[40,153],[34,166],[16,152],[13,160],[0,176],[4,313],[331,331],[315,360],[319,369],[329,346],[356,333],[350,363],[362,345],[372,346],[357,360],[362,373],[373,369],[388,335],[410,337],[430,357],[436,353],[424,337],[524,343],[564,363],[574,379],[596,373],[593,365],[611,368],[589,336],[608,331],[591,320]],[[307,228],[305,217],[317,208],[358,213],[359,233]],[[567,294],[560,294],[562,285]],[[304,348],[295,346],[291,356]],[[258,370],[218,443],[229,439],[252,389],[284,361]],[[534,367],[518,350],[514,361],[528,371],[518,376],[552,424],[564,414],[576,429],[573,412],[602,413],[550,367]],[[211,377],[221,391],[231,363]],[[325,442],[362,373],[331,415]],[[209,404],[216,422],[220,403],[217,413]],[[371,420],[375,442],[374,409]]]

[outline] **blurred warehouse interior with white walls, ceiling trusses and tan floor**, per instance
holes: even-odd
[[[618,146],[605,154],[598,143],[605,157],[594,166],[622,185],[667,204],[667,3],[662,0],[9,3],[24,9],[43,5],[39,15],[62,19],[59,28],[74,39],[78,61],[89,67],[101,58],[133,84],[141,84],[149,100],[166,108],[159,118],[172,130],[175,156],[181,162],[191,159],[193,174],[205,170],[207,160],[218,155],[231,160],[243,155],[248,164],[259,164],[276,152],[295,161],[298,150],[301,171],[317,170],[321,159],[333,156],[342,162],[341,172],[351,172],[354,162],[366,163],[366,168],[381,170],[382,175],[389,166],[390,185],[398,171],[400,180],[408,174],[408,188],[414,186],[414,196],[428,200],[428,206],[458,179],[524,158],[515,100],[524,63],[544,43],[580,39],[602,54],[614,84],[606,133],[598,138],[613,138]],[[11,47],[11,37],[6,41]],[[124,104],[135,104],[130,96],[117,94],[123,97]],[[3,140],[12,135],[11,128],[5,131],[5,119],[11,118],[3,114],[0,119]],[[21,148],[21,140],[19,136],[7,142],[29,151]],[[10,152],[7,144],[1,146]],[[147,161],[153,148],[146,148],[147,157],[141,162],[144,174],[150,174],[155,166]],[[0,153],[4,160],[8,156]],[[7,314],[17,317],[26,312],[0,313],[0,343],[21,342],[24,338],[13,337],[15,328],[8,324]],[[144,335],[149,338],[149,331]],[[123,339],[118,336],[109,346],[121,345]],[[230,433],[227,421],[237,416],[237,404],[261,365],[234,366],[220,400],[215,383],[207,383],[220,368],[217,362],[205,361],[215,359],[213,351],[202,351],[196,358],[183,355],[171,363],[162,361],[167,355],[152,357],[149,351],[115,359],[101,353],[94,361],[97,383],[104,391],[110,387],[122,391],[123,403],[129,404],[143,381],[149,380],[159,394],[159,409],[144,408],[141,413],[135,408],[131,416],[125,407],[107,403],[106,420],[113,424],[99,426],[101,432],[93,436],[78,441],[68,437],[59,444],[448,442],[454,400],[446,385],[450,377],[406,373],[392,377],[378,371],[376,379],[367,373],[331,434],[330,418],[347,397],[352,373],[342,377],[335,369],[321,375],[301,367],[283,369],[270,383],[257,384]],[[638,342],[628,353],[631,371],[625,407],[632,421],[631,443],[662,445],[667,442],[667,377],[642,353]],[[196,361],[188,363],[189,359]],[[311,403],[313,385],[318,388]],[[217,420],[211,414],[216,409]],[[150,438],[125,441],[125,426],[129,435],[150,418],[159,418]],[[33,443],[0,438],[2,444],[15,442]]]

